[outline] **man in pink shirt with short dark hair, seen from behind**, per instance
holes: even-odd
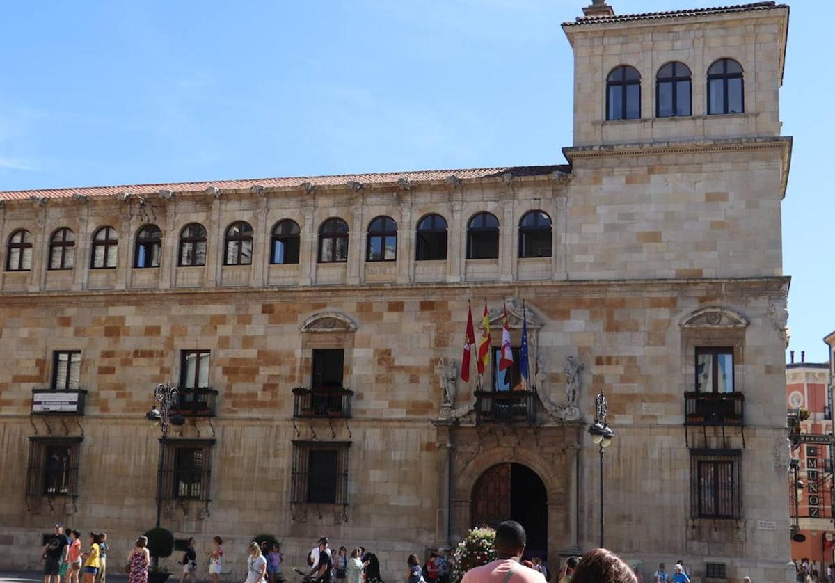
[[[545,583],[542,573],[519,563],[527,542],[528,536],[522,525],[505,520],[496,529],[498,559],[468,570],[461,583]]]

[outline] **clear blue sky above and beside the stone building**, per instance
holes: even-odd
[[[586,3],[4,3],[0,189],[562,163],[572,62],[559,23]],[[815,114],[835,94],[819,69],[833,20],[833,3],[794,3],[781,94],[795,137],[791,347],[807,360],[826,359],[835,329],[832,120]]]

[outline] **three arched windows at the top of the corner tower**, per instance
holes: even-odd
[[[666,63],[655,75],[655,116],[692,115],[693,82],[685,63]],[[707,69],[707,114],[745,112],[742,66],[720,58]],[[640,119],[640,73],[634,67],[615,67],[606,78],[606,119]]]

